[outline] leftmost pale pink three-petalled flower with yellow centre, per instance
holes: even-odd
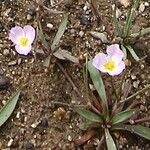
[[[10,30],[9,39],[15,44],[15,49],[19,54],[27,55],[35,39],[35,29],[30,25],[24,28],[16,26]]]

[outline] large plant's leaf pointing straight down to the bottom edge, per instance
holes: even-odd
[[[106,136],[106,144],[108,150],[117,150],[115,142],[112,138],[112,136],[109,133],[108,129],[105,129],[105,136]]]

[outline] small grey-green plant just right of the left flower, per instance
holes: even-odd
[[[43,62],[43,65],[45,67],[49,66],[52,57],[60,60],[69,60],[76,64],[79,63],[78,58],[72,56],[71,52],[69,52],[68,50],[64,50],[60,47],[60,40],[66,30],[67,22],[68,22],[68,15],[65,15],[64,19],[61,21],[59,25],[58,31],[50,46],[46,38],[48,37],[48,35],[43,33],[43,29],[39,21],[39,27],[37,28],[37,35],[40,41],[42,42],[42,46],[44,47],[45,51],[43,51],[43,49],[38,49],[38,51],[46,55],[46,59]]]

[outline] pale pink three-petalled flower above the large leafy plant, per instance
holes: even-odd
[[[118,44],[108,46],[106,52],[107,54],[99,53],[94,57],[93,66],[111,76],[119,75],[125,69],[125,63],[122,60],[124,53]]]

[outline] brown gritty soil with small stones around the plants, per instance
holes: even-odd
[[[91,0],[93,1],[93,0]],[[39,1],[41,3],[42,1]],[[64,11],[69,14],[66,32],[60,42],[63,49],[70,51],[74,56],[81,58],[88,51],[92,56],[96,52],[105,51],[106,44],[93,38],[90,31],[105,31],[109,41],[113,40],[112,26],[113,0],[93,1],[97,12],[90,5],[90,0],[45,0],[42,5],[53,9],[52,12],[39,10],[34,0],[1,0],[0,1],[0,65],[4,74],[10,78],[10,85],[0,91],[0,108],[17,90],[21,96],[15,111],[7,122],[0,128],[0,149],[12,150],[95,150],[98,136],[89,140],[84,146],[77,147],[74,140],[83,135],[80,130],[82,119],[66,104],[80,104],[83,100],[73,90],[71,84],[55,63],[49,68],[43,67],[43,58],[35,55],[36,49],[28,56],[20,56],[8,40],[9,30],[16,26],[30,24],[36,28],[37,11],[41,18],[44,33],[49,36],[51,43],[59,23],[64,14],[54,11]],[[147,1],[141,1],[145,4]],[[124,21],[127,8],[117,1],[118,8]],[[149,3],[150,5],[150,3]],[[42,7],[42,6],[41,6]],[[52,24],[52,28],[47,27]],[[133,31],[150,26],[150,6],[145,6],[142,13],[138,13]],[[40,42],[38,42],[40,47]],[[109,44],[108,44],[109,45]],[[143,53],[141,53],[143,51]],[[141,38],[136,44],[136,52],[140,57],[149,56],[150,36]],[[85,94],[83,68],[68,61],[60,61],[71,76],[74,84]],[[126,79],[130,79],[132,89],[130,94],[142,89],[150,83],[150,60],[144,59],[140,63],[132,62]],[[114,98],[110,79],[103,74],[107,86],[108,99]],[[118,87],[120,78],[115,77]],[[7,83],[8,84],[8,83]],[[150,116],[150,91],[135,98],[140,103],[141,118]],[[54,104],[54,102],[60,102]],[[61,104],[63,103],[63,104]],[[85,102],[84,102],[85,103]],[[55,114],[55,117],[54,117]],[[149,122],[143,123],[149,127]],[[128,132],[116,132],[113,136],[119,150],[149,150],[149,141],[139,138]],[[103,148],[105,149],[105,148]]]

